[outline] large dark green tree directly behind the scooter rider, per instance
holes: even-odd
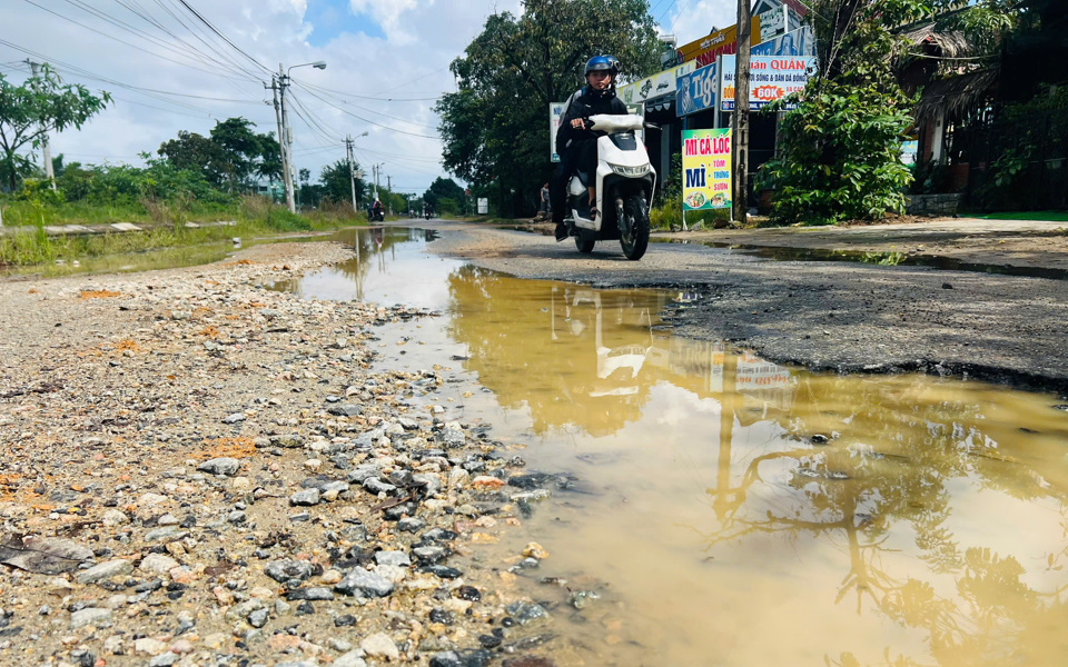
[[[645,0],[525,0],[518,17],[491,16],[451,66],[459,90],[436,106],[445,167],[533,202],[524,192],[552,168],[548,104],[582,84],[586,59],[612,53],[636,78],[659,69],[659,52]]]

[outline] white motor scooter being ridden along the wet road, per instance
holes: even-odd
[[[589,129],[605,135],[597,139],[597,172],[576,173],[567,183],[567,235],[575,237],[580,252],[592,252],[597,241],[619,239],[627,259],[641,259],[649,247],[649,207],[656,187],[656,170],[636,135],[644,119],[599,113],[584,120]],[[591,178],[596,216],[590,215]]]

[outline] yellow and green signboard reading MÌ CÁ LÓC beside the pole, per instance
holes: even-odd
[[[682,132],[682,210],[731,208],[731,130]]]

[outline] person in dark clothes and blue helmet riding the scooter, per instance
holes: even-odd
[[[594,56],[586,61],[586,84],[575,91],[564,106],[564,115],[556,132],[556,153],[560,167],[553,175],[550,201],[553,222],[556,223],[556,240],[567,238],[564,225],[567,181],[576,172],[589,173],[590,217],[597,215],[593,175],[597,170],[597,133],[591,130],[587,120],[596,113],[626,115],[626,104],[615,96],[615,78],[620,61],[614,56]]]

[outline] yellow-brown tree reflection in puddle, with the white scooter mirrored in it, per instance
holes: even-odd
[[[643,362],[651,317],[664,297],[557,287],[532,299],[531,283],[469,266],[448,283],[449,335],[467,346],[467,368],[502,405],[526,405],[536,432],[581,425],[602,436],[637,418],[653,384]]]

